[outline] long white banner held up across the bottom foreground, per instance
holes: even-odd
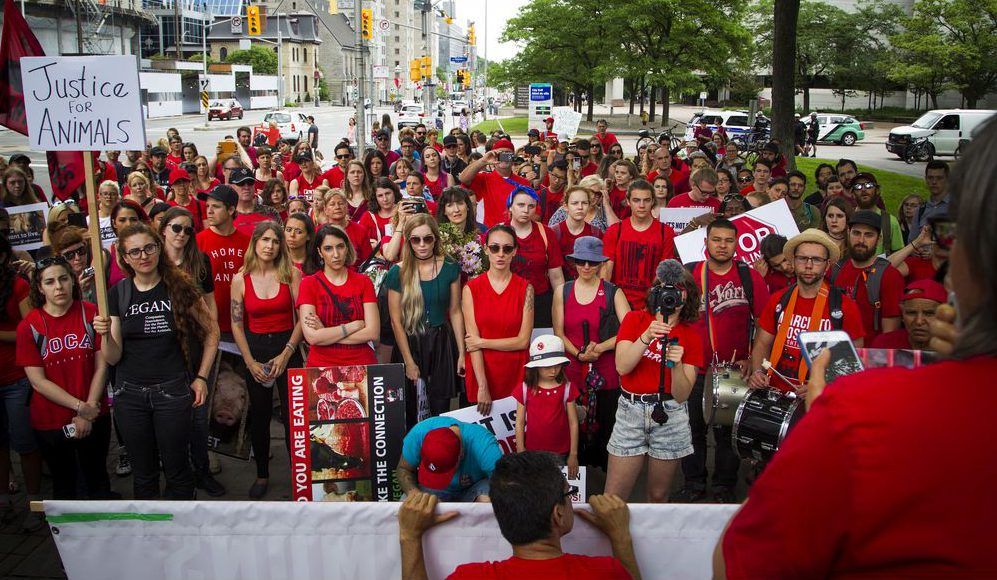
[[[46,501],[71,579],[270,580],[400,578],[397,503]],[[512,554],[488,504],[441,504],[460,516],[423,540],[430,578]],[[734,505],[631,504],[630,530],[645,578],[702,579]],[[608,556],[581,518],[566,552]]]

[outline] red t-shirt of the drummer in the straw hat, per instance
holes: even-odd
[[[786,292],[790,292],[792,288],[786,288],[776,292],[769,298],[768,304],[765,305],[765,310],[762,311],[762,315],[758,318],[758,326],[765,332],[772,335],[778,335],[779,324],[778,321],[782,319],[785,313],[780,312],[776,314],[776,308],[779,306],[779,301],[782,299],[782,295]],[[782,351],[782,357],[779,360],[772,360],[775,353],[771,353],[765,358],[772,361],[776,369],[786,375],[791,379],[796,379],[799,376],[800,365],[805,365],[803,362],[803,355],[800,353],[800,344],[797,342],[797,337],[799,337],[801,332],[808,332],[810,330],[810,314],[814,310],[816,303],[816,298],[804,298],[798,296],[796,299],[796,315],[789,322],[789,332],[786,334],[786,345]],[[788,307],[788,306],[787,306]],[[824,305],[824,312],[821,315],[820,326],[816,329],[818,331],[829,331],[831,330],[831,300],[828,297],[827,302]],[[865,330],[862,326],[862,313],[859,311],[859,307],[855,304],[855,301],[848,296],[841,297],[841,315],[842,315],[842,330],[848,333],[852,341],[865,338]],[[778,377],[773,376],[772,382],[773,387],[781,388],[783,390],[789,390],[790,385],[783,384]]]

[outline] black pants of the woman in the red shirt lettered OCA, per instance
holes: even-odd
[[[42,458],[52,472],[55,499],[106,499],[111,495],[107,476],[107,447],[111,442],[111,417],[101,415],[83,439],[68,439],[62,429],[35,431]],[[80,478],[88,497],[80,498]]]

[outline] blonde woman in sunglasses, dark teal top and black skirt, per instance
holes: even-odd
[[[443,253],[436,220],[417,214],[405,224],[402,261],[388,271],[388,312],[395,338],[392,362],[405,363],[407,428],[419,418],[416,381],[426,383],[430,416],[445,413],[464,375],[460,268]],[[456,337],[461,337],[458,340]]]

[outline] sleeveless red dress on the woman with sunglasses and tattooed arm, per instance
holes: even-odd
[[[474,300],[474,321],[481,338],[511,338],[519,334],[523,325],[523,305],[526,303],[525,278],[512,275],[501,294],[492,288],[488,274],[482,274],[467,283]],[[523,365],[529,356],[527,349],[501,351],[483,349],[485,377],[492,400],[504,399],[512,390],[523,384]],[[467,400],[478,402],[478,380],[474,376],[471,353],[465,355],[467,368]]]

